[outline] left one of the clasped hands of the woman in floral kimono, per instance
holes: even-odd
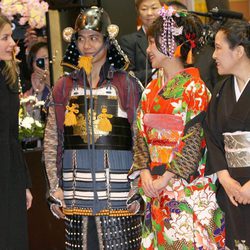
[[[158,192],[153,185],[153,178],[150,171],[148,169],[141,170],[140,177],[141,177],[142,189],[145,195],[151,198],[157,197]]]

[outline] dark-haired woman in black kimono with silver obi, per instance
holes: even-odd
[[[215,37],[218,73],[206,120],[207,169],[219,179],[226,246],[250,248],[250,25],[228,20]]]

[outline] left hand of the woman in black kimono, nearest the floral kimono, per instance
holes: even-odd
[[[217,172],[219,181],[225,189],[230,201],[237,207],[237,198],[240,195],[241,185],[238,181],[233,179],[227,170]]]

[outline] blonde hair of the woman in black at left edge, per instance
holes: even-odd
[[[11,22],[7,17],[5,17],[2,13],[0,13],[0,31],[4,28],[6,24],[9,24],[11,26]],[[14,59],[9,61],[4,61],[5,66],[2,70],[3,75],[5,76],[5,79],[7,81],[7,84],[14,85],[17,81],[17,64]]]

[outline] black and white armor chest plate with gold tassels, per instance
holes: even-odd
[[[73,89],[64,122],[64,148],[130,150],[132,135],[127,114],[111,85],[84,91]]]

